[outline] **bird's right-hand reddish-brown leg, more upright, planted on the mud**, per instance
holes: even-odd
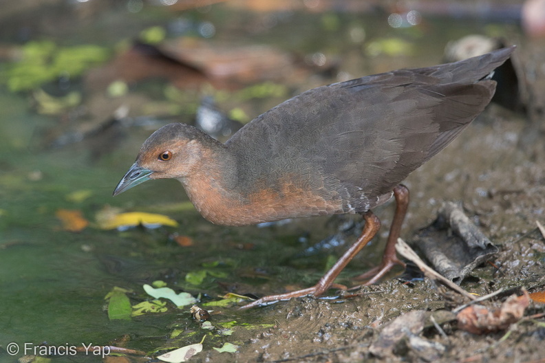
[[[399,184],[394,188],[394,197],[396,198],[396,212],[394,213],[394,220],[390,226],[390,232],[388,235],[388,241],[384,250],[383,259],[381,264],[374,267],[372,270],[365,272],[356,277],[356,280],[365,280],[370,278],[365,285],[372,285],[376,281],[380,280],[392,267],[395,265],[401,265],[405,267],[405,263],[400,261],[396,254],[396,242],[401,233],[401,226],[407,214],[407,207],[409,206],[409,189],[403,184]]]

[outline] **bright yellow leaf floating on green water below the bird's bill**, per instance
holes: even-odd
[[[158,228],[160,225],[169,225],[178,227],[178,222],[163,214],[145,213],[145,212],[127,212],[112,213],[107,216],[97,217],[98,225],[103,230],[127,230],[137,225],[143,225],[146,228]]]

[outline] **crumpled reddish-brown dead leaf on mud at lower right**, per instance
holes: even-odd
[[[504,330],[524,316],[530,304],[526,290],[524,295],[512,295],[498,309],[490,310],[482,305],[471,305],[458,313],[458,328],[473,334]]]

